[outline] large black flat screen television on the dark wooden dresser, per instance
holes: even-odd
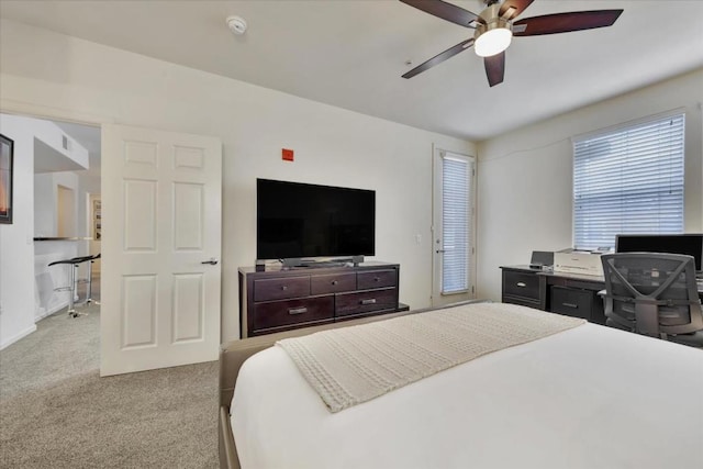
[[[376,191],[256,180],[257,259],[373,256]]]

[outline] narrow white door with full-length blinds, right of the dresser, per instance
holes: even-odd
[[[435,149],[432,305],[475,298],[475,159]]]

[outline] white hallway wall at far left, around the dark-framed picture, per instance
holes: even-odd
[[[34,134],[29,121],[0,115],[0,133],[14,141],[12,224],[0,224],[0,349],[36,330],[32,244]]]

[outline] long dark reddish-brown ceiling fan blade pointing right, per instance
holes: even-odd
[[[574,11],[525,18],[513,23],[513,35],[538,36],[610,26],[622,12],[623,10]]]

